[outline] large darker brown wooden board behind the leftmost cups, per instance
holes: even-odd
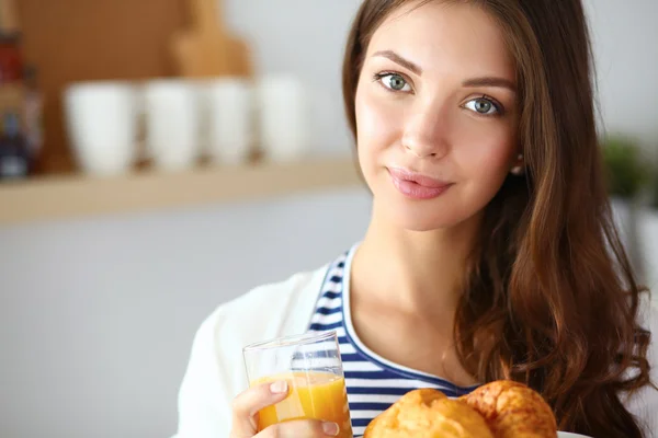
[[[77,169],[61,102],[70,83],[141,82],[178,74],[171,36],[190,24],[189,0],[14,0],[14,4],[24,58],[36,66],[45,99],[39,173]]]

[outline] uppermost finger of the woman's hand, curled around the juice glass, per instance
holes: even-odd
[[[242,392],[234,400],[232,433],[238,437],[251,437],[258,431],[256,414],[276,404],[288,394],[285,381],[259,384]]]

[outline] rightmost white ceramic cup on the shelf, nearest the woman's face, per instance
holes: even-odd
[[[304,84],[293,76],[262,78],[258,87],[260,143],[265,159],[297,161],[309,149],[309,105]]]

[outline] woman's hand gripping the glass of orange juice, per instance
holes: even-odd
[[[253,387],[234,400],[230,438],[326,438],[336,437],[336,423],[303,419],[280,423],[258,433],[258,412],[283,401],[288,395],[287,382]]]

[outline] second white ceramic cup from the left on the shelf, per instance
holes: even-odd
[[[146,154],[166,171],[191,168],[201,154],[198,84],[155,80],[143,85]]]

